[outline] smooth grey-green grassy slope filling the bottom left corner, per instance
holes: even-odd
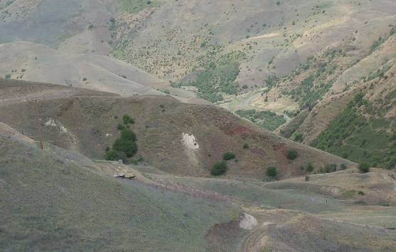
[[[238,219],[222,201],[123,182],[0,126],[4,251],[205,251],[214,225]]]

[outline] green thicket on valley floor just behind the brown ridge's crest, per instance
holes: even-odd
[[[276,115],[275,112],[271,111],[237,110],[236,115],[245,117],[256,125],[271,131],[276,130],[286,122],[283,115]]]

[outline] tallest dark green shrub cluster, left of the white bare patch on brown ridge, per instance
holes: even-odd
[[[137,137],[135,132],[130,130],[130,124],[135,124],[130,115],[123,115],[123,124],[119,124],[117,129],[120,130],[121,136],[115,140],[113,147],[107,147],[105,153],[106,160],[120,160],[124,162],[133,157],[137,152]]]

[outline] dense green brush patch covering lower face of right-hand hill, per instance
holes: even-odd
[[[382,105],[374,105],[365,100],[362,93],[358,93],[313,141],[312,146],[353,162],[367,162],[372,167],[392,167],[396,154],[396,137],[392,137],[395,132],[391,133],[389,129],[395,123],[395,118],[375,118],[375,115],[381,115],[384,110]],[[372,116],[365,117],[361,112]]]

